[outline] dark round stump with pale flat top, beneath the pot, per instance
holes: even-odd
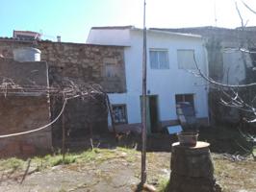
[[[209,143],[198,141],[193,147],[172,144],[169,192],[219,192]]]

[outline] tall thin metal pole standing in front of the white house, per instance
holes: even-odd
[[[146,27],[145,0],[143,6],[143,55],[142,55],[142,115],[141,115],[141,184],[146,181]]]

